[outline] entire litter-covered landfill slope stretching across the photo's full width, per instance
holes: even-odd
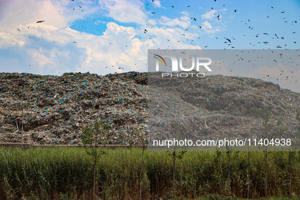
[[[271,123],[282,120],[273,132],[282,137],[297,134],[295,115],[300,108],[299,93],[245,77],[160,76],[148,78],[148,73],[138,72],[106,76],[2,73],[0,142],[21,141],[22,87],[18,86],[21,80],[30,83],[24,86],[26,143],[78,144],[82,128],[101,121],[110,125],[109,134],[104,138],[107,144],[139,144],[146,140],[149,127],[156,131],[158,138],[170,137],[178,118],[185,138],[232,135],[238,139],[262,138],[265,137],[262,119],[255,114],[259,108],[272,112]],[[282,131],[282,127],[287,129]]]

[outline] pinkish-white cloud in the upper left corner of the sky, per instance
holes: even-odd
[[[28,43],[29,37],[43,38],[49,41],[69,42],[72,31],[65,28],[74,20],[83,18],[95,11],[89,8],[80,12],[73,10],[71,1],[34,1],[13,0],[4,4],[0,17],[0,48],[11,45],[22,46]],[[90,6],[89,1],[81,9]],[[71,7],[71,8],[69,8]],[[44,21],[36,23],[37,21]],[[18,30],[19,29],[19,30]],[[69,28],[69,30],[71,30]],[[33,39],[30,39],[33,40]],[[26,42],[27,41],[27,42]]]

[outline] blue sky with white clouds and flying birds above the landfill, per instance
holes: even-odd
[[[148,49],[300,49],[296,0],[0,0],[0,8],[6,73],[147,72]],[[239,76],[265,80],[270,72],[266,81],[300,92],[298,65],[253,69]],[[215,72],[238,75],[230,70]],[[277,81],[281,70],[295,78]]]

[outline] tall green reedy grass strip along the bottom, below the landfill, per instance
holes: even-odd
[[[108,149],[97,162],[96,195],[101,199],[139,199],[142,150]],[[142,196],[172,197],[173,157],[145,151]],[[178,199],[246,198],[248,152],[231,152],[230,195],[226,152],[186,152],[176,161]],[[288,199],[288,152],[268,152],[269,199]],[[300,153],[292,154],[291,191],[300,199]],[[264,152],[250,152],[250,197],[264,196]],[[0,199],[89,199],[92,159],[83,148],[0,148]],[[223,196],[223,197],[222,197]],[[286,197],[284,197],[286,196]],[[235,198],[236,199],[236,198]]]

